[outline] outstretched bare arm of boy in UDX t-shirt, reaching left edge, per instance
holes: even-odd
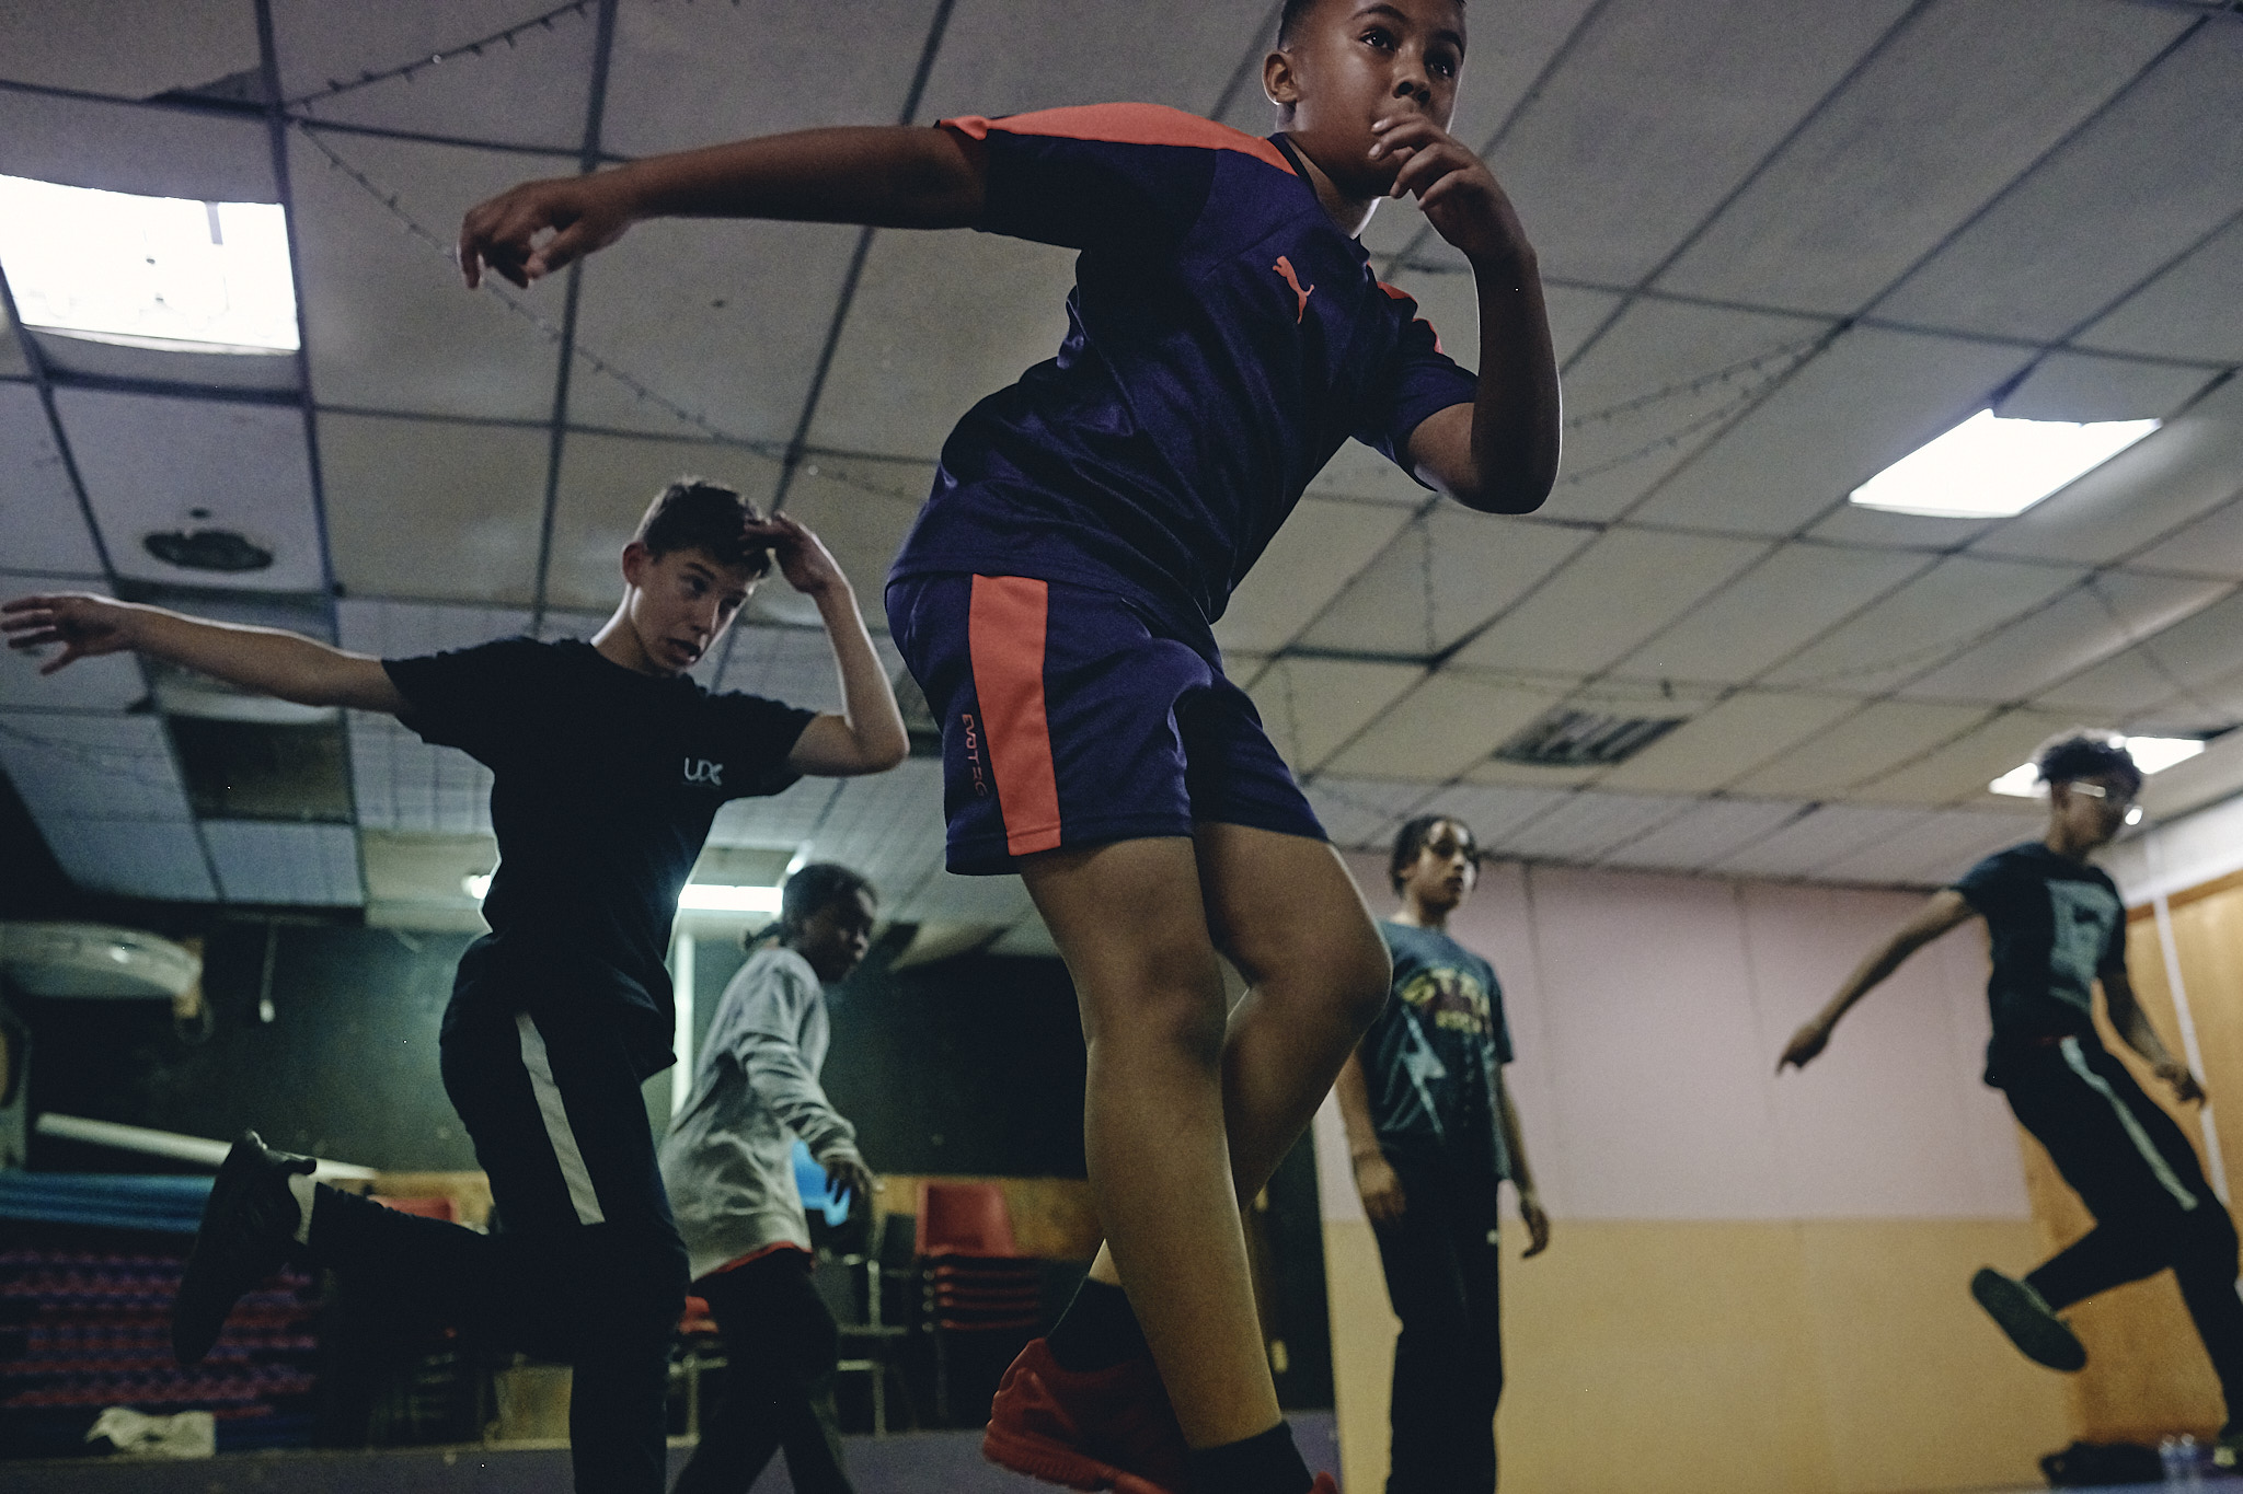
[[[130,650],[298,706],[354,706],[390,715],[406,710],[406,697],[390,683],[379,659],[278,627],[206,623],[164,607],[54,591],[0,605],[0,629],[7,629],[9,647],[63,645],[61,656],[40,665],[40,674],[54,674],[79,659]]]

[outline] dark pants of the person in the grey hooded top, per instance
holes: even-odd
[[[776,1250],[693,1283],[724,1335],[724,1386],[673,1494],[747,1494],[781,1447],[794,1494],[850,1494],[834,1416],[841,1330],[810,1266]]]

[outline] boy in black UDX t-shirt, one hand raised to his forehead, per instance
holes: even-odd
[[[843,715],[711,694],[684,674],[774,553],[825,618]],[[576,1487],[659,1494],[686,1252],[639,1084],[673,1062],[662,961],[677,891],[724,800],[805,773],[881,773],[908,744],[848,578],[794,520],[671,484],[624,547],[624,580],[590,643],[505,638],[426,659],[83,594],[7,603],[4,627],[13,647],[63,645],[45,674],[135,650],[305,706],[390,712],[493,771],[491,932],[460,959],[442,1066],[502,1232],[316,1187],[310,1158],[249,1131],[211,1187],[173,1348],[202,1360],[240,1295],[305,1248],[399,1308],[572,1362]]]

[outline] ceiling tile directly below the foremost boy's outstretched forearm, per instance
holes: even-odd
[[[664,408],[668,401],[727,437],[785,450],[855,246],[857,228],[837,224],[635,226],[585,262],[576,347],[626,370],[657,399],[639,399],[579,358],[570,421],[684,439],[707,435]]]

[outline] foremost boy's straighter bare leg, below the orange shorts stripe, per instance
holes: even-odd
[[[1090,1192],[1184,1440],[1258,1436],[1281,1418],[1231,1187],[1222,974],[1193,842],[1045,851],[1021,876],[1074,977]]]

